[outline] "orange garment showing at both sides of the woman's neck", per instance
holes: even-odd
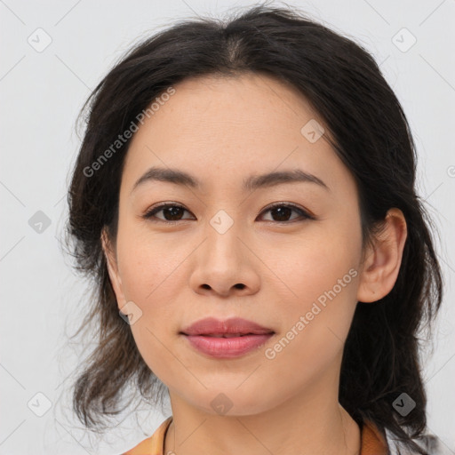
[[[172,416],[165,419],[153,435],[144,439],[144,441],[136,445],[131,451],[124,452],[123,455],[165,455],[164,436],[171,422]],[[360,455],[387,455],[387,443],[379,433],[378,427],[372,422],[366,421],[363,424],[361,436]]]

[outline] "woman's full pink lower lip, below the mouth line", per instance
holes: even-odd
[[[265,335],[244,335],[243,337],[217,338],[204,335],[185,335],[197,350],[218,358],[233,358],[244,355],[266,343],[273,333]]]

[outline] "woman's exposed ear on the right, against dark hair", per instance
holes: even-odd
[[[400,209],[387,212],[385,227],[365,251],[357,300],[374,302],[385,297],[395,285],[407,237],[406,220]]]

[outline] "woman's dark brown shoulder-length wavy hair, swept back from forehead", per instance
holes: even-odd
[[[417,157],[409,124],[362,45],[295,8],[264,4],[227,22],[185,20],[148,37],[108,72],[84,105],[86,129],[68,191],[67,241],[76,269],[92,279],[94,289],[91,313],[80,330],[95,327],[98,339],[74,385],[76,415],[86,427],[97,428],[119,411],[127,384],[154,402],[167,390],[119,316],[100,242],[101,230],[107,228],[116,243],[120,181],[130,140],[93,175],[87,169],[170,86],[192,76],[248,73],[291,84],[319,113],[334,151],[355,178],[364,242],[378,232],[388,209],[397,207],[404,214],[408,237],[394,288],[374,304],[357,304],[344,348],[339,403],[359,425],[370,419],[426,453],[413,442],[427,425],[418,334],[431,329],[443,279],[429,229],[432,221],[415,190]],[[403,392],[416,403],[405,416],[392,405]]]

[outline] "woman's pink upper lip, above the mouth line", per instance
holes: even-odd
[[[184,335],[221,335],[224,333],[262,335],[264,333],[275,333],[275,331],[241,317],[231,317],[226,321],[220,321],[214,317],[206,317],[196,321],[196,323],[192,323],[180,333]]]

